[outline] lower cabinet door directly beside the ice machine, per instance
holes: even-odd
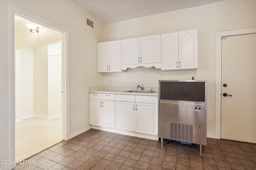
[[[157,104],[136,103],[135,132],[148,135],[158,134]]]

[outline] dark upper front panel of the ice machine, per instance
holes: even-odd
[[[205,101],[205,82],[160,82],[160,100]]]

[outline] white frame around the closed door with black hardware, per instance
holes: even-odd
[[[221,138],[221,64],[222,37],[256,33],[256,28],[222,31],[216,33],[216,91],[215,91],[215,139]]]

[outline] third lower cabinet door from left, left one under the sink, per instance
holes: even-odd
[[[135,131],[134,116],[134,103],[116,102],[116,129]]]

